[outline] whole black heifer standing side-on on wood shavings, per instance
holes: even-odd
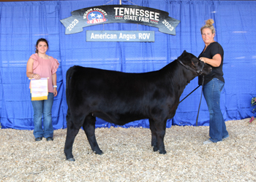
[[[72,146],[80,127],[92,151],[102,154],[95,138],[95,117],[118,125],[149,119],[151,146],[165,154],[167,119],[173,118],[186,85],[211,67],[186,51],[159,71],[129,74],[73,66],[67,71],[67,160],[74,161]]]

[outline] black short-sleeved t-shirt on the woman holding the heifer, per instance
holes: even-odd
[[[198,76],[198,84],[199,85],[207,84],[213,78],[217,78],[217,79],[221,80],[222,82],[225,82],[224,78],[223,78],[223,71],[222,71],[224,51],[222,49],[222,46],[217,41],[214,41],[211,44],[209,44],[208,47],[206,47],[206,51],[201,52],[200,55],[198,56],[198,58],[204,57],[204,58],[212,59],[214,57],[214,55],[217,55],[217,54],[222,56],[222,63],[220,64],[219,67],[214,67],[214,66],[209,65],[209,66],[211,66],[212,71],[210,74],[205,75],[204,82],[203,82],[203,76]]]

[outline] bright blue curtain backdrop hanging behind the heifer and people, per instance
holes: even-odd
[[[256,1],[187,1],[122,0],[122,4],[151,7],[169,12],[181,20],[176,36],[161,33],[147,25],[110,23],[83,28],[80,33],[65,35],[60,20],[86,7],[119,4],[119,0],[94,1],[22,1],[0,2],[0,122],[2,128],[33,130],[33,108],[29,98],[26,63],[34,53],[37,39],[49,41],[48,55],[59,60],[58,96],[53,103],[53,127],[65,128],[67,102],[66,71],[79,65],[108,70],[140,73],[155,71],[175,60],[184,50],[198,56],[204,43],[200,28],[214,19],[215,40],[222,44],[225,88],[221,96],[222,113],[227,120],[253,116],[250,101],[256,96]],[[86,30],[155,31],[154,42],[86,42]],[[197,78],[184,90],[181,99],[197,87]],[[173,124],[195,125],[200,89],[179,106]],[[202,100],[199,125],[208,125],[208,108]],[[110,127],[97,119],[97,127]],[[140,120],[124,127],[148,127]]]

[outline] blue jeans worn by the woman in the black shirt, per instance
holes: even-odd
[[[226,124],[220,110],[220,92],[224,87],[224,82],[217,78],[212,79],[206,85],[203,85],[203,95],[206,98],[208,111],[210,113],[210,140],[214,143],[222,141],[228,137]]]

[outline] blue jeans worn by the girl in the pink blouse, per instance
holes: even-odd
[[[31,97],[31,94],[30,94]],[[53,107],[53,93],[48,93],[48,100],[31,100],[34,108],[34,137],[53,137],[53,123],[51,108]],[[42,128],[43,115],[43,128]]]

